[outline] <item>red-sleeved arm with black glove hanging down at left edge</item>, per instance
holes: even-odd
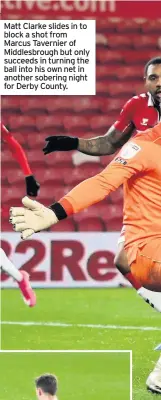
[[[20,143],[12,136],[12,134],[1,124],[2,139],[7,143],[8,148],[12,152],[13,157],[20,165],[26,181],[26,192],[29,196],[37,196],[40,188],[39,183],[36,181],[29,166],[26,154]]]

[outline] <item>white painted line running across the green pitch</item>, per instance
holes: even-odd
[[[93,328],[93,329],[120,329],[128,331],[161,331],[159,326],[124,326],[124,325],[94,325],[94,324],[68,324],[62,322],[37,322],[37,321],[2,321],[2,325],[20,326],[53,326],[60,328]]]

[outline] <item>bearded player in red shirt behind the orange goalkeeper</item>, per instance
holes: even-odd
[[[123,107],[118,120],[104,136],[92,139],[78,139],[68,136],[50,136],[44,154],[54,151],[78,150],[82,153],[101,156],[115,153],[137,131],[144,131],[161,120],[161,57],[156,57],[146,64],[144,71],[146,92],[132,97]],[[115,257],[115,265],[120,272],[139,290],[139,294],[156,306],[156,299],[140,288],[130,272],[124,251],[124,228]],[[147,297],[150,296],[150,297]],[[161,308],[158,304],[157,309]]]

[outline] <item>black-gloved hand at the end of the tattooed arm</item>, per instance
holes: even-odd
[[[44,154],[53,151],[76,150],[79,144],[79,139],[71,136],[48,136],[45,140],[47,144],[43,148]]]

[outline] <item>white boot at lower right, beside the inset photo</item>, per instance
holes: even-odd
[[[155,350],[161,350],[161,344]],[[161,393],[161,355],[153,371],[148,376],[146,385],[147,389],[152,393]]]

